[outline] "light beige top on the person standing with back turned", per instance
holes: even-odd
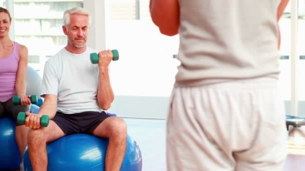
[[[177,85],[277,79],[280,0],[179,0]]]

